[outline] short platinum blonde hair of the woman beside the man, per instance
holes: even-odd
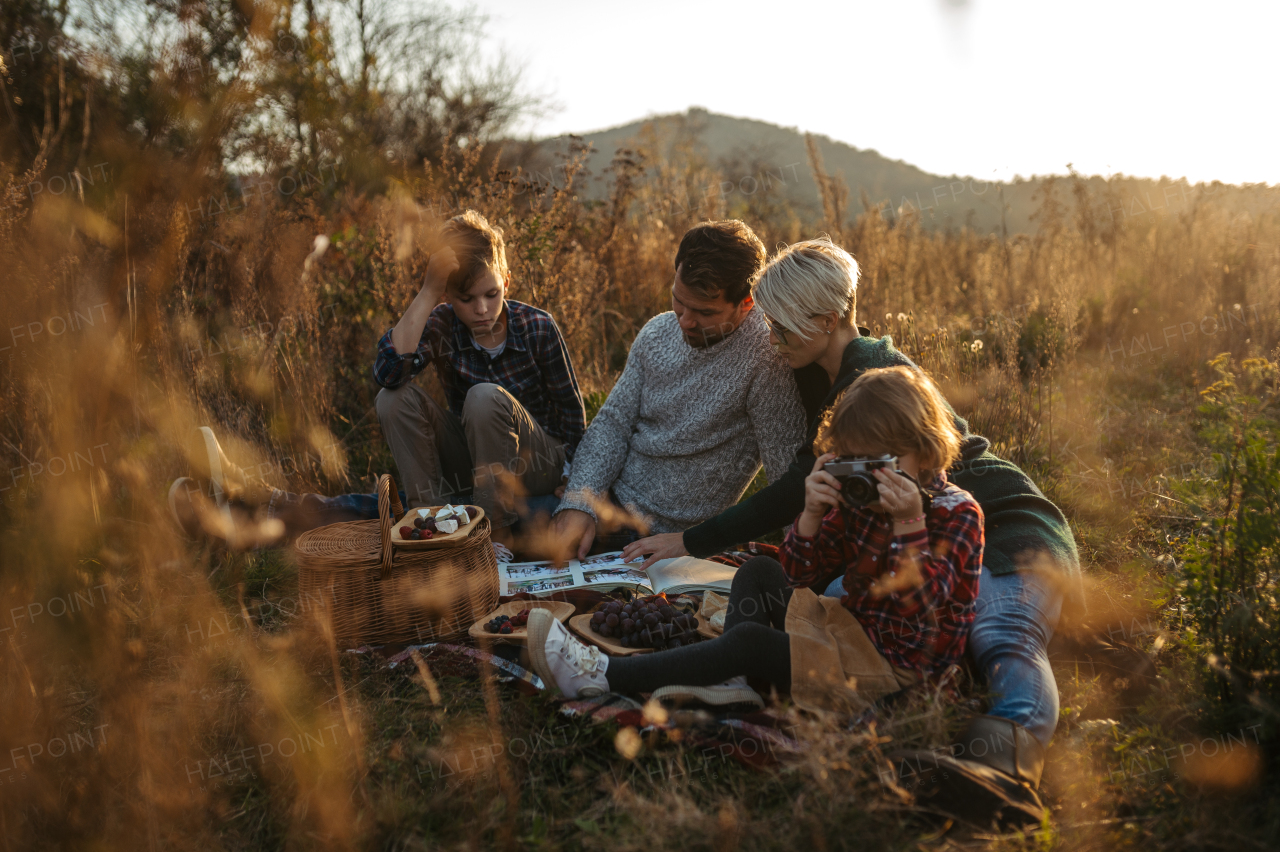
[[[808,340],[822,331],[814,316],[835,311],[854,324],[858,261],[829,237],[806,239],[764,265],[753,294],[771,320]]]

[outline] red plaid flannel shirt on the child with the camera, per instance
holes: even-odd
[[[982,509],[973,495],[942,477],[942,489],[925,514],[924,530],[893,535],[891,516],[840,507],[827,513],[813,539],[795,527],[782,544],[780,562],[792,586],[812,586],[844,572],[841,603],[854,614],[876,649],[892,665],[941,674],[964,654],[982,573]],[[873,580],[918,559],[924,585],[881,599],[870,596]]]

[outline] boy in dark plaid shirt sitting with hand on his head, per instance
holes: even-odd
[[[443,237],[422,289],[378,343],[378,418],[411,505],[474,486],[502,540],[517,519],[513,491],[554,501],[586,430],[582,394],[556,320],[507,298],[502,234],[468,210]],[[410,381],[428,365],[448,411]]]

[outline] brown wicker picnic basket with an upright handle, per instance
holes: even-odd
[[[453,548],[392,545],[403,514],[396,482],[378,478],[378,521],[330,523],[298,536],[298,590],[323,601],[334,638],[353,647],[463,636],[498,605],[498,560],[481,518]]]

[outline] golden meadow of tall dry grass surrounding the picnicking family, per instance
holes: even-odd
[[[259,61],[319,97],[307,74],[335,60],[300,50]],[[468,142],[488,119],[456,105],[419,147],[317,120],[276,156],[243,130],[260,91],[193,77],[183,54],[128,97],[90,93],[91,63],[55,54],[10,52],[0,74],[27,97],[0,147],[3,848],[1274,844],[1280,191],[1165,179],[1179,203],[1152,210],[1073,174],[1042,183],[1033,233],[982,234],[850,212],[813,157],[815,217],[708,192],[716,164],[653,138],[599,175],[571,150],[547,179],[518,143]],[[333,109],[360,115],[344,84]],[[603,200],[577,191],[595,178]],[[589,413],[668,310],[690,225],[740,217],[771,248],[826,233],[854,253],[860,324],[941,383],[1080,545],[1089,609],[1055,645],[1039,830],[945,820],[884,777],[887,743],[947,745],[979,684],[852,729],[781,706],[808,747],[750,768],[678,728],[590,724],[489,678],[344,654],[288,549],[178,532],[165,494],[197,425],[278,487],[370,491],[394,472],[375,342],[466,207],[504,230],[511,296],[557,317]]]

